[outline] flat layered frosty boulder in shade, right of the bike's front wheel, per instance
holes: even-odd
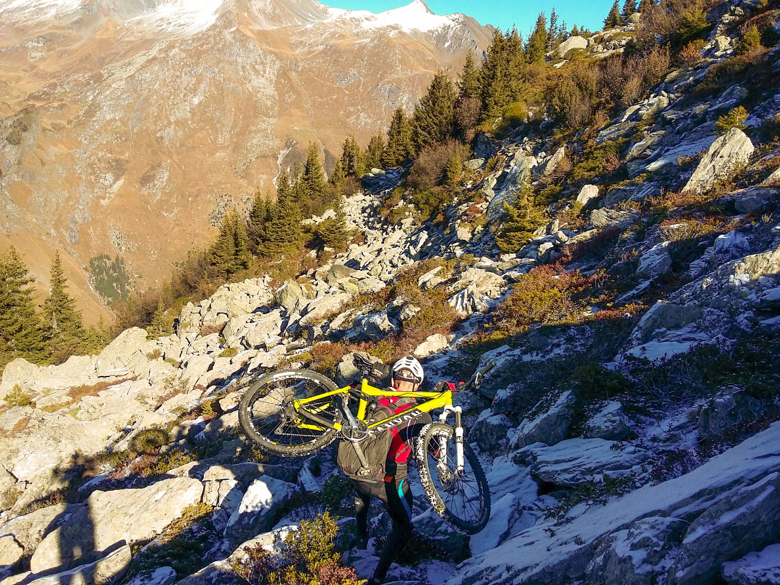
[[[533,449],[531,475],[549,484],[590,484],[604,476],[619,476],[651,459],[652,453],[633,445],[616,445],[600,438],[573,438]]]

